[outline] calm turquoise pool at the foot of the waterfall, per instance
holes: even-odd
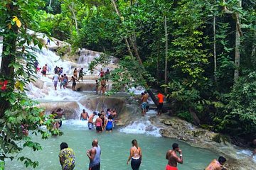
[[[164,169],[167,163],[166,151],[171,148],[173,142],[178,142],[183,150],[184,162],[178,165],[180,170],[204,169],[212,159],[218,157],[217,154],[206,149],[191,147],[184,142],[163,137],[127,134],[119,132],[117,129],[112,133],[97,134],[95,130],[89,131],[86,124],[80,120],[64,121],[63,127],[61,127],[64,132],[63,136],[50,137],[48,140],[33,137],[36,142],[41,143],[43,151],[31,152],[31,150],[26,149],[23,154],[39,161],[39,166],[36,169],[61,169],[58,161],[60,143],[67,142],[68,146],[75,151],[75,169],[87,169],[89,159],[86,156],[86,151],[90,149],[92,140],[96,138],[102,148],[102,170],[131,169],[131,166],[127,165],[126,162],[133,139],[137,139],[139,147],[142,148],[143,162],[140,167],[142,170]],[[26,167],[20,162],[8,161],[6,162],[6,169],[18,170],[26,169]]]

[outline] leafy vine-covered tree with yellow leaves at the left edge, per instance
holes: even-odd
[[[41,134],[47,138],[53,129],[47,121],[54,121],[43,115],[43,109],[36,107],[36,102],[26,96],[26,84],[36,79],[34,62],[36,56],[31,50],[33,45],[39,48],[43,43],[36,34],[28,34],[27,27],[38,26],[33,21],[37,16],[36,9],[43,5],[40,0],[8,1],[0,2],[0,36],[3,40],[3,53],[1,54],[0,81],[7,80],[6,91],[1,91],[0,96],[0,160],[19,159],[24,160],[26,166],[38,166],[28,157],[14,157],[24,147],[30,147],[33,151],[41,149],[41,146],[28,137],[28,132]],[[48,119],[46,121],[46,118]],[[39,129],[46,125],[49,131]],[[20,145],[21,141],[23,145]]]

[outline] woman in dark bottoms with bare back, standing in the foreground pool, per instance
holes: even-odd
[[[130,155],[127,160],[127,164],[129,164],[131,159],[132,170],[139,170],[139,166],[142,163],[142,149],[138,147],[137,140],[132,140],[132,147],[130,149]]]

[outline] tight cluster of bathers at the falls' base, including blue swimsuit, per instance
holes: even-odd
[[[94,121],[95,115],[97,115],[98,118]],[[89,116],[85,109],[83,109],[80,114],[80,120],[88,121],[87,125],[89,130],[93,130],[95,126],[96,132],[98,133],[101,133],[103,130],[106,132],[112,132],[114,123],[117,121],[117,111],[115,108],[112,110],[107,108],[106,113],[104,111],[101,111],[100,113],[93,112]]]

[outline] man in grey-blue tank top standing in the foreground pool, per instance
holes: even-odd
[[[92,141],[92,149],[87,150],[87,157],[90,159],[89,170],[100,170],[101,149],[97,140]]]

